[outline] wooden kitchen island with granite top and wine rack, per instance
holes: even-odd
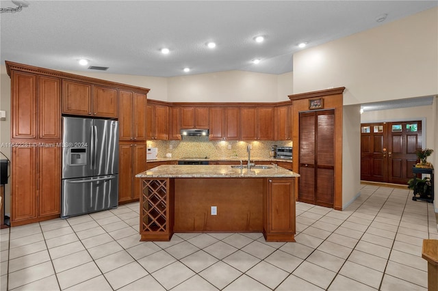
[[[295,241],[294,182],[282,167],[160,165],[136,175],[141,240],[174,232],[263,232],[267,241]]]

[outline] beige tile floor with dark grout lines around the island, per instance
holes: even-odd
[[[1,230],[1,290],[427,290],[433,205],[361,185],[346,210],[296,204],[296,243],[259,233],[140,242],[138,203]]]

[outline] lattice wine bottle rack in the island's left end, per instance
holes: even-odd
[[[143,180],[142,232],[167,232],[168,180]]]

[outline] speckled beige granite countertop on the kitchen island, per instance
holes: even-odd
[[[295,178],[300,175],[283,167],[236,169],[231,165],[160,165],[137,174],[137,178]]]

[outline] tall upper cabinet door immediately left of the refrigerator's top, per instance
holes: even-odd
[[[38,138],[61,138],[61,81],[38,77]]]

